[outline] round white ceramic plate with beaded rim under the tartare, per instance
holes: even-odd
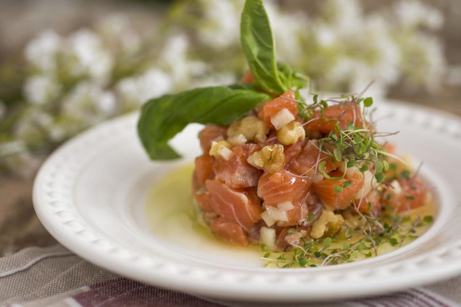
[[[461,273],[461,125],[457,117],[403,104],[382,104],[382,131],[400,130],[400,152],[425,161],[441,209],[433,226],[409,245],[372,259],[330,267],[265,269],[200,238],[166,242],[145,221],[146,192],[165,173],[199,153],[199,127],[188,127],[181,161],[148,160],[136,114],[102,123],[56,150],[41,167],[33,201],[40,221],[64,246],[96,265],[140,281],[208,297],[313,301],[373,295]],[[192,242],[187,244],[185,242]]]

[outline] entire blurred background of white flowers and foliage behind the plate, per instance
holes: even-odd
[[[57,145],[149,98],[246,70],[243,0],[0,2],[0,172],[30,176]],[[314,92],[461,113],[461,3],[265,0],[278,56]]]

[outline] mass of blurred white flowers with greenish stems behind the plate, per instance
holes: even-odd
[[[144,43],[142,32],[123,14],[104,17],[93,30],[66,37],[50,30],[40,33],[25,48],[29,73],[22,84],[25,99],[18,103],[26,111],[6,139],[1,136],[0,156],[6,151],[11,155],[0,167],[30,171],[43,158],[40,152],[151,98],[235,82],[247,66],[239,39],[244,0],[199,3],[194,12],[200,20],[178,23],[191,21],[193,35],[183,31],[160,36],[149,26],[157,44]],[[278,59],[312,77],[313,92],[359,93],[372,80],[367,96],[384,95],[397,82],[405,89],[428,90],[436,90],[446,75],[453,83],[461,82],[459,68],[447,74],[443,45],[431,33],[441,28],[442,14],[416,0],[371,13],[358,0],[326,0],[315,16],[286,11],[280,1],[264,4]],[[0,119],[5,113],[0,102]],[[9,144],[10,139],[16,143]]]

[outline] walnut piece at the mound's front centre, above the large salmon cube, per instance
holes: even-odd
[[[265,172],[282,169],[285,163],[283,145],[267,145],[249,156],[248,163],[256,168],[263,169]]]

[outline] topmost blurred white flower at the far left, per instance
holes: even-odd
[[[53,30],[47,30],[31,40],[25,49],[26,60],[34,68],[51,72],[56,68],[56,54],[60,49],[61,38]]]

